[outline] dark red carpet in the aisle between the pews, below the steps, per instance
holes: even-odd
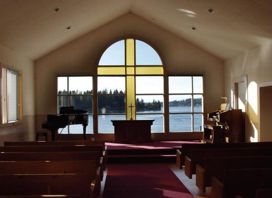
[[[103,198],[194,198],[165,164],[109,164]]]

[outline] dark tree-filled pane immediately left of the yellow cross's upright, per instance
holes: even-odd
[[[98,112],[99,113],[125,113],[126,103],[125,96],[98,96]]]

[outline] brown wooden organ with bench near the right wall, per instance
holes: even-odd
[[[229,104],[221,104],[220,109],[208,113],[208,121],[204,124],[204,143],[243,142],[243,118],[241,109],[229,109]]]

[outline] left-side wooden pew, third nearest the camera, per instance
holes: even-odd
[[[99,151],[71,152],[0,152],[0,161],[69,161],[69,160],[99,160],[100,176],[103,180],[104,158]]]

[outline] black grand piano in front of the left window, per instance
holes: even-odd
[[[55,141],[59,128],[73,124],[83,125],[83,140],[86,140],[86,127],[88,125],[87,111],[74,108],[74,106],[62,106],[60,107],[59,115],[47,115],[47,121],[42,124],[42,128],[51,131],[52,141]]]

